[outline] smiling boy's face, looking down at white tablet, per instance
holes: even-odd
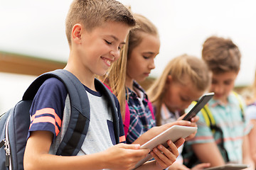
[[[124,23],[110,21],[90,32],[82,29],[78,43],[78,63],[85,72],[105,75],[112,62],[119,58],[129,29]]]

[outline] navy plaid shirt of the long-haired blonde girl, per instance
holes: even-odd
[[[136,81],[134,81],[134,89],[137,89],[140,97],[128,88],[127,94],[128,106],[130,111],[130,124],[127,133],[127,144],[131,144],[134,140],[142,135],[144,132],[153,128],[156,125],[156,121],[152,118],[151,111],[148,106],[148,97],[145,91],[142,89]]]

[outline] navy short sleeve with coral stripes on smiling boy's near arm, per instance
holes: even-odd
[[[58,135],[67,94],[64,84],[56,78],[47,79],[41,85],[31,105],[28,137],[32,131],[38,130],[52,132],[53,139]]]

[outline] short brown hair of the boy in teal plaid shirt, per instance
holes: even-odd
[[[216,36],[208,38],[203,43],[202,57],[215,74],[240,70],[240,50],[230,39]]]

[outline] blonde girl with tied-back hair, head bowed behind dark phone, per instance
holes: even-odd
[[[178,120],[191,102],[200,98],[209,85],[210,74],[203,60],[191,55],[175,57],[147,91],[156,111],[156,124],[164,125]],[[182,147],[179,152],[182,152]],[[207,166],[210,165],[200,164],[193,169]],[[188,169],[183,165],[181,154],[170,169]]]

